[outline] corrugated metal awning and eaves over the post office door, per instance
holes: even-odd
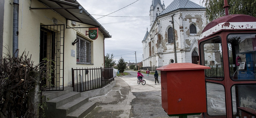
[[[99,27],[104,38],[111,38],[111,35],[101,24],[92,17],[76,0],[38,0],[43,3],[46,7],[44,8],[32,8],[30,9],[52,9],[61,16],[68,20],[88,24],[91,26]],[[75,2],[73,2],[75,1]]]

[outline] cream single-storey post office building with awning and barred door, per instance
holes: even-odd
[[[18,13],[12,0],[0,3],[1,56],[9,51],[13,55],[12,49],[18,47],[20,55],[29,52],[35,64],[43,58],[53,60],[52,83],[56,87],[71,86],[72,68],[104,68],[104,40],[111,35],[78,2],[24,0]],[[13,16],[17,16],[16,23]],[[14,25],[17,33],[13,32]],[[89,28],[98,28],[97,39],[89,38]]]

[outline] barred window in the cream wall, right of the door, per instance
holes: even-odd
[[[91,64],[91,41],[76,35],[78,42],[76,43],[76,63]]]

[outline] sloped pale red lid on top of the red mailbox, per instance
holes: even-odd
[[[156,70],[170,71],[170,70],[201,70],[201,69],[211,69],[207,66],[202,66],[194,63],[171,63],[166,66],[157,68]]]

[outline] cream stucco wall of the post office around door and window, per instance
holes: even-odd
[[[12,55],[12,26],[13,26],[13,0],[5,0],[4,2],[4,33],[3,33],[3,54],[8,53],[8,49]],[[71,68],[100,68],[104,67],[104,38],[103,34],[98,34],[96,40],[91,40],[85,32],[88,28],[66,28],[79,27],[72,26],[71,21],[52,10],[30,10],[29,7],[39,8],[46,7],[37,0],[24,0],[19,2],[19,54],[23,51],[32,55],[31,60],[34,64],[39,63],[39,45],[40,45],[40,25],[53,25],[52,19],[58,20],[58,25],[65,24],[64,36],[64,86],[71,85]],[[77,23],[78,25],[79,23]],[[80,23],[82,24],[82,23]],[[80,27],[93,27],[83,24]],[[79,35],[91,41],[91,59],[92,64],[76,64],[76,44],[72,42]],[[6,47],[6,48],[5,48]],[[75,57],[71,56],[71,50],[75,50]]]

